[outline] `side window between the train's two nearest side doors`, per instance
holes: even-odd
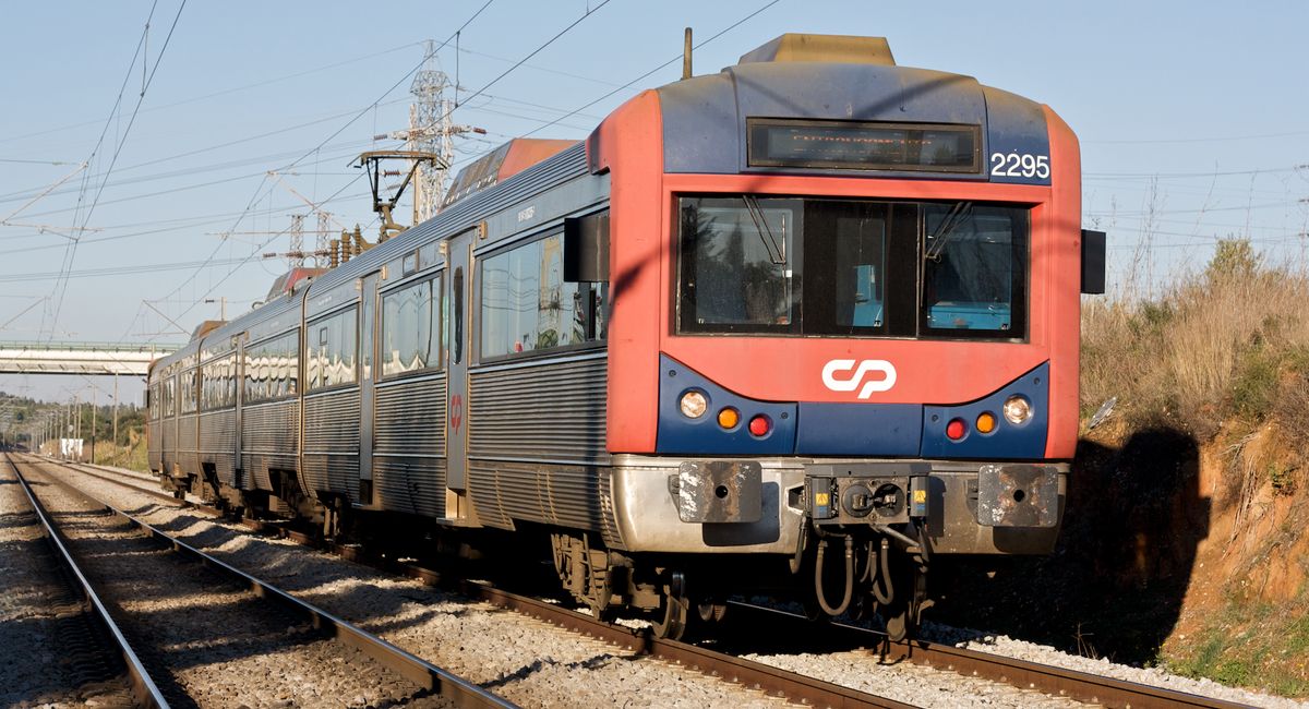
[[[382,296],[382,377],[441,366],[441,276]]]

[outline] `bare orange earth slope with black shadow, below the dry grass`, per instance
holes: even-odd
[[[1309,476],[1287,442],[1274,425],[1203,443],[1097,428],[1056,552],[942,569],[935,617],[1309,696]]]

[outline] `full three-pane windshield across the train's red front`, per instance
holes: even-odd
[[[1026,336],[1028,209],[679,198],[678,330]]]

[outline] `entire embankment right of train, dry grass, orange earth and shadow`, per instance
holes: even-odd
[[[1309,697],[1305,302],[1309,267],[1245,241],[1164,293],[1088,301],[1059,549],[956,569],[936,617]]]

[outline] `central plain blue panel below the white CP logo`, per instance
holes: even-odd
[[[918,455],[922,404],[800,403],[797,455]]]

